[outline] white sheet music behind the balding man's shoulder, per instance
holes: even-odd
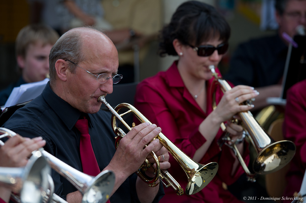
[[[39,82],[31,82],[20,85],[19,87],[14,87],[5,105],[3,106],[3,109],[35,99],[43,92],[43,89],[48,81],[49,79],[46,78]]]

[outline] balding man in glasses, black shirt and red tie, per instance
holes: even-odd
[[[74,28],[53,46],[49,62],[50,82],[42,94],[17,110],[3,127],[25,137],[42,136],[47,141],[46,151],[79,171],[92,176],[113,171],[111,202],[158,202],[164,194],[162,184],[148,187],[134,172],[151,151],[162,156],[161,169],[170,167],[168,151],[159,140],[148,144],[161,129],[155,124],[137,125],[116,150],[111,113],[100,110],[102,103],[97,101],[112,93],[113,84],[123,77],[117,74],[118,52],[113,42],[95,29]],[[81,128],[89,128],[89,132],[83,133]],[[90,135],[85,149],[84,134]],[[84,164],[88,160],[92,161]],[[81,193],[68,180],[54,171],[52,177],[56,194],[69,203],[80,202]]]

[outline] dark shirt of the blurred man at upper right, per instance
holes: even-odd
[[[288,47],[278,34],[244,42],[231,56],[224,79],[255,88],[280,84],[287,52]]]

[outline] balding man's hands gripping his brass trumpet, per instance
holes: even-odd
[[[168,169],[170,167],[167,150],[159,142],[159,139],[153,140],[160,132],[161,128],[157,127],[155,124],[150,125],[149,123],[141,123],[133,127],[120,140],[114,157],[105,168],[115,173],[116,181],[113,192],[118,189],[128,176],[140,168],[152,151],[156,152],[157,156],[162,157],[163,155],[165,158],[161,161],[161,169]],[[138,177],[138,179],[140,178]],[[137,184],[142,184],[147,188],[147,183],[144,183],[142,180],[137,181]],[[158,187],[155,189],[152,188],[152,190],[156,190],[155,193],[157,193]]]

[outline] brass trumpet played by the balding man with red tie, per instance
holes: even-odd
[[[131,127],[123,120],[121,116],[132,112],[141,122],[148,122],[151,124],[150,121],[147,120],[135,107],[128,103],[121,103],[115,109],[113,109],[109,103],[105,100],[105,95],[101,95],[98,98],[98,102],[103,103],[112,113],[111,124],[116,137],[116,148],[118,147],[118,142],[121,140],[123,136],[125,136],[125,132],[118,128],[116,125],[116,119],[119,119],[120,122],[128,129],[131,130]],[[126,111],[123,114],[118,114],[118,111],[121,108],[126,108]],[[170,152],[170,154],[175,158],[175,160],[181,165],[184,169],[187,177],[188,177],[188,184],[186,186],[186,194],[191,195],[199,192],[202,190],[216,175],[218,171],[218,164],[216,162],[211,162],[207,165],[199,164],[193,161],[190,157],[188,157],[184,152],[182,152],[178,147],[176,147],[166,136],[162,133],[159,133],[155,139],[159,139],[160,143]],[[151,180],[144,177],[142,171],[146,170],[147,168],[151,167],[151,164],[146,160],[142,167],[136,171],[136,174],[149,186],[155,187],[157,184],[155,181],[160,178],[161,181],[163,179],[166,180],[166,183],[162,181],[165,187],[172,187],[173,190],[177,193],[177,195],[184,194],[184,190],[181,186],[177,183],[177,181],[169,174],[166,170],[160,170],[160,165],[158,158],[151,152],[151,156],[155,159],[156,169],[155,169],[155,177]]]

